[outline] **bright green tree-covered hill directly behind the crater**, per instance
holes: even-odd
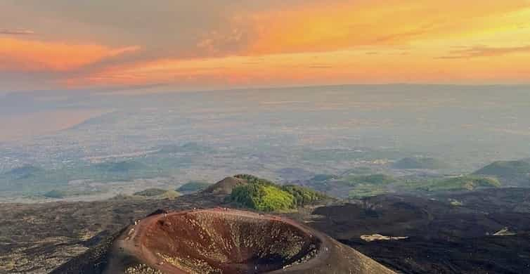
[[[239,174],[245,185],[239,185],[227,197],[244,207],[259,211],[285,211],[325,199],[325,195],[295,185],[277,185],[269,180],[248,174]]]

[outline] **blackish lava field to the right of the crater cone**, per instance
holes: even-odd
[[[524,189],[382,195],[317,208],[311,226],[401,273],[530,273],[529,202]],[[506,227],[515,235],[493,235]],[[361,239],[376,233],[408,238]]]

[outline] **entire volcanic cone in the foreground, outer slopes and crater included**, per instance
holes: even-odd
[[[394,272],[290,219],[216,208],[155,211],[52,273]]]

